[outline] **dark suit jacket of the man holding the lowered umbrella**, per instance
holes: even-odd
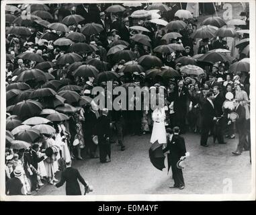
[[[167,146],[163,149],[163,153],[170,151],[170,156],[179,160],[181,156],[185,156],[186,148],[185,148],[185,140],[182,136],[178,134],[173,134],[173,138],[171,141],[167,141]]]

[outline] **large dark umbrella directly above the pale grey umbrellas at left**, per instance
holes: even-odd
[[[26,116],[34,116],[42,111],[42,104],[34,100],[26,100],[16,103],[13,107],[13,114],[21,118]]]

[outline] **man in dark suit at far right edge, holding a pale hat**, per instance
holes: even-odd
[[[234,99],[234,110],[239,115],[239,118],[235,120],[237,131],[239,132],[239,144],[237,145],[237,150],[232,152],[234,155],[241,155],[243,153],[243,148],[248,148],[247,142],[247,126],[245,118],[245,107],[243,107],[237,99]],[[231,124],[229,121],[228,124]]]

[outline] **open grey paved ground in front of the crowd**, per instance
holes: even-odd
[[[112,162],[101,164],[99,159],[75,161],[81,175],[94,187],[90,195],[108,194],[159,194],[159,193],[222,193],[224,179],[232,181],[233,193],[249,193],[251,189],[251,164],[249,152],[233,156],[237,139],[227,144],[200,146],[198,134],[184,135],[190,157],[183,171],[185,189],[169,189],[173,184],[167,169],[155,169],[148,158],[150,135],[126,136],[126,150],[120,151],[112,144]],[[167,164],[166,164],[167,166]],[[224,180],[224,181],[223,181]],[[37,195],[65,195],[65,186],[46,185]]]

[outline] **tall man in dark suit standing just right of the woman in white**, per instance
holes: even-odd
[[[187,116],[187,106],[191,102],[191,96],[184,86],[183,81],[179,81],[178,87],[174,92],[173,110],[175,112],[175,126],[179,126],[181,134],[186,131],[185,119]]]

